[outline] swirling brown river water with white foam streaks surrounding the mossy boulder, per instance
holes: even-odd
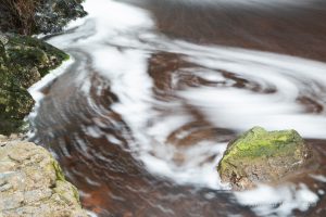
[[[325,216],[326,3],[88,0],[48,41],[30,139],[98,216]],[[253,126],[297,129],[319,167],[233,192],[216,165]]]

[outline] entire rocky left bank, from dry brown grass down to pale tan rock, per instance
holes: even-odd
[[[22,131],[34,106],[27,88],[68,59],[28,35],[61,31],[68,21],[86,15],[80,2],[0,0],[0,133]],[[64,179],[49,152],[0,136],[0,217],[20,216],[87,215],[80,208],[78,191]]]

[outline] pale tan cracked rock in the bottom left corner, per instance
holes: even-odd
[[[77,189],[43,148],[0,136],[1,217],[86,217]]]

